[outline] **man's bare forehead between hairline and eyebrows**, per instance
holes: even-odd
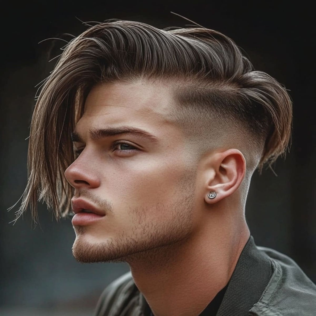
[[[158,138],[180,131],[170,115],[172,95],[166,86],[144,82],[99,83],[89,92],[75,132],[130,126]]]

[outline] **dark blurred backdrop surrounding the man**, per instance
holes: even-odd
[[[292,145],[274,172],[256,172],[246,216],[257,245],[283,252],[316,282],[315,24],[304,2],[164,1],[7,2],[1,27],[0,314],[92,315],[105,286],[128,270],[122,264],[80,264],[72,257],[70,220],[56,222],[40,205],[40,226],[26,213],[15,225],[7,209],[27,182],[27,137],[34,96],[61,53],[61,38],[81,21],[110,18],[185,27],[191,22],[231,37],[257,70],[284,84],[294,102]],[[80,21],[81,20],[81,21]],[[68,34],[68,35],[67,35]],[[43,41],[46,40],[46,41]],[[43,41],[39,44],[40,41]]]

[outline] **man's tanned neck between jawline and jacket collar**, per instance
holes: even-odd
[[[250,232],[244,219],[227,214],[223,225],[223,215],[215,216],[185,240],[128,261],[155,316],[199,315],[227,285]]]

